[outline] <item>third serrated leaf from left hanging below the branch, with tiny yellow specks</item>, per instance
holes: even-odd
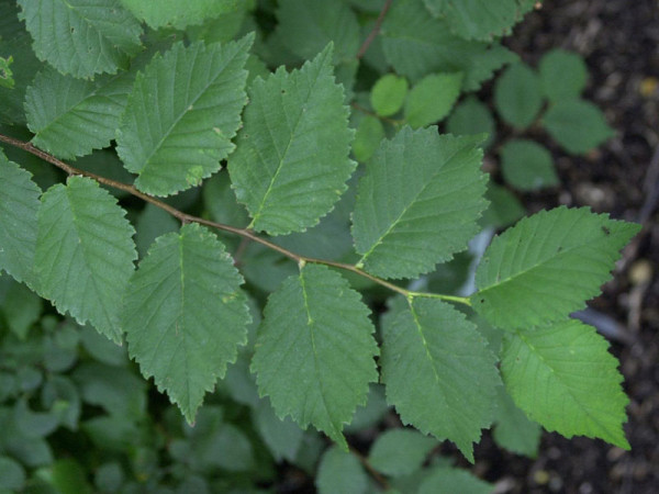
[[[129,284],[122,326],[131,357],[190,424],[247,340],[242,283],[215,235],[188,224],[156,239]]]

